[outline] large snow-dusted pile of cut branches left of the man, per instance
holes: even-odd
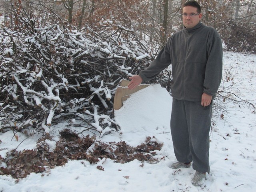
[[[116,88],[153,58],[135,32],[111,21],[78,31],[18,5],[13,16],[13,25],[0,28],[0,131],[47,133],[66,118],[94,133],[119,130]]]

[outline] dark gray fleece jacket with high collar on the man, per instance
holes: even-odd
[[[222,79],[222,42],[214,28],[199,22],[173,34],[148,68],[143,81],[156,77],[172,64],[172,96],[178,100],[201,101],[203,93],[213,98]]]

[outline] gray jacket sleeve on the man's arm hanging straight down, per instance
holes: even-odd
[[[208,45],[208,60],[204,78],[204,93],[215,96],[222,80],[222,42],[215,31],[212,41]]]

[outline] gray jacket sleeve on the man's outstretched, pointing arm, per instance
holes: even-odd
[[[170,41],[171,38],[169,38],[165,46],[162,48],[162,50],[160,50],[156,59],[150,63],[148,68],[140,72],[139,75],[143,81],[148,81],[155,78],[162,70],[171,64]]]

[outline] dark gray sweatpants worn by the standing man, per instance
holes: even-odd
[[[172,100],[171,133],[174,154],[179,162],[192,162],[198,172],[210,172],[209,132],[212,103]]]

